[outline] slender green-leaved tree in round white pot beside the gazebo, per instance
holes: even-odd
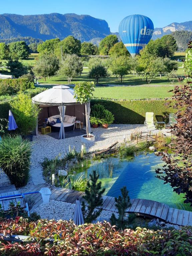
[[[90,100],[93,96],[93,91],[95,90],[94,82],[80,82],[74,87],[74,97],[76,97],[77,102],[85,104],[85,119],[86,119],[86,135],[81,135],[81,141],[83,143],[94,142],[95,136],[91,134],[89,130],[90,121]]]

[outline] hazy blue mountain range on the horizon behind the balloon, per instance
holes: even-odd
[[[152,39],[181,30],[192,31],[192,21],[174,22],[163,28],[155,28]],[[90,41],[98,44],[102,38],[109,34],[116,34],[119,38],[118,32],[110,32],[108,23],[105,20],[89,15],[77,15],[74,13],[0,14],[0,42],[15,41],[17,38],[23,37],[35,38],[38,41],[52,38],[60,38],[62,40],[68,35],[73,35],[81,42]]]

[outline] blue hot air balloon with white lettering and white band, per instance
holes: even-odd
[[[127,16],[119,24],[119,35],[132,57],[148,44],[153,30],[151,19],[139,14]]]

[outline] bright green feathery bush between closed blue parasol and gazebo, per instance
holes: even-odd
[[[36,127],[39,108],[32,103],[30,96],[20,93],[10,102],[10,105],[19,132],[23,135],[32,132]]]

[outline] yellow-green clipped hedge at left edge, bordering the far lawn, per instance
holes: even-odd
[[[34,83],[26,78],[0,79],[0,96],[12,95],[30,88],[35,88]]]

